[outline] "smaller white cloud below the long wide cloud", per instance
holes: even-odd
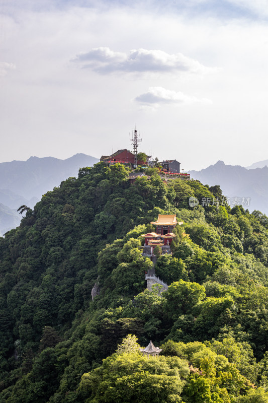
[[[190,105],[196,102],[211,103],[209,99],[189,96],[179,91],[167,90],[163,87],[150,87],[147,92],[135,98],[143,104],[181,104]]]

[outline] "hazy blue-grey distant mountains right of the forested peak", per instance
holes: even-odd
[[[218,161],[201,171],[188,171],[191,178],[210,186],[220,185],[224,195],[245,199],[250,197],[248,210],[260,210],[268,215],[268,168],[246,169]]]

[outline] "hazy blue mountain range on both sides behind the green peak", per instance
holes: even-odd
[[[81,167],[93,166],[99,159],[75,154],[65,160],[53,157],[30,157],[27,161],[0,163],[0,236],[20,224],[17,209],[26,205],[33,208],[44,193],[68,177],[77,176]],[[225,165],[218,161],[201,171],[188,171],[191,178],[210,186],[220,185],[223,194],[232,200],[249,201],[250,212],[260,210],[268,215],[268,160],[245,168]],[[249,198],[249,200],[248,200]]]

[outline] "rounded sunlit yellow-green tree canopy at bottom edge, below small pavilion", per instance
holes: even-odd
[[[189,373],[187,362],[140,354],[114,355],[101,367],[82,376],[79,396],[88,403],[166,403],[180,401]],[[182,376],[182,375],[183,376]]]

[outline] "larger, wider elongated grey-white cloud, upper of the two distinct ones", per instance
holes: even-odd
[[[129,55],[114,52],[109,47],[99,47],[76,55],[73,61],[97,73],[178,73],[204,74],[215,69],[182,53],[169,54],[162,50],[134,49]]]

